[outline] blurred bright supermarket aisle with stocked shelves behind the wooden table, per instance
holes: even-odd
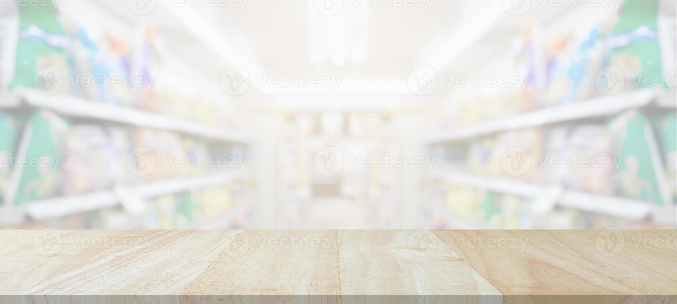
[[[0,0],[0,228],[676,228],[674,0]]]

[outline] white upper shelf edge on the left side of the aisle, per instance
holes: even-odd
[[[14,98],[7,98],[5,105],[0,107],[18,107],[25,104],[31,107],[51,109],[52,111],[64,115],[76,116],[79,118],[129,124],[131,126],[157,128],[218,141],[249,144],[249,141],[245,136],[236,134],[236,132],[212,126],[204,126],[196,122],[162,116],[156,113],[139,111],[129,107],[89,101],[87,99],[68,95],[45,96],[30,89],[16,91],[14,92],[14,95]]]

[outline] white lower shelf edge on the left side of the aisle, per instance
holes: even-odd
[[[225,184],[244,178],[244,174],[213,174],[194,178],[175,178],[152,182],[141,186],[116,186],[113,191],[100,191],[87,195],[59,197],[41,201],[23,203],[14,209],[32,220],[48,220],[78,213],[112,208],[121,204],[121,196],[143,199],[172,193],[180,193],[194,188]],[[18,211],[15,211],[18,212]]]

